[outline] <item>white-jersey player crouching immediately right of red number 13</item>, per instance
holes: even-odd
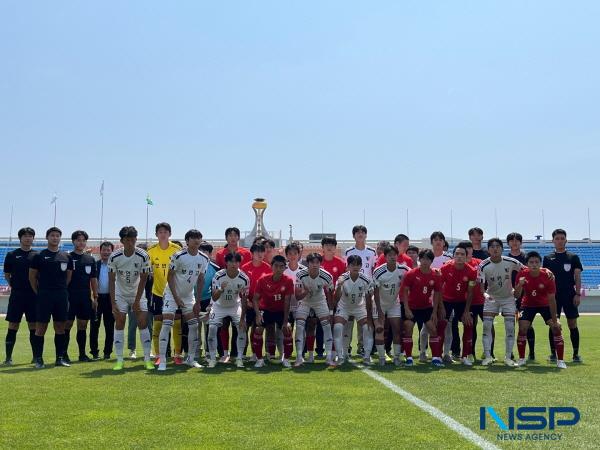
[[[296,310],[296,362],[294,367],[304,363],[302,350],[304,349],[304,338],[306,330],[306,319],[311,310],[321,322],[323,327],[323,341],[327,352],[327,363],[333,365],[332,347],[333,334],[331,332],[331,318],[333,316],[333,277],[321,269],[323,257],[318,253],[311,253],[306,257],[308,268],[297,274],[297,282],[300,284],[296,291],[298,308]]]

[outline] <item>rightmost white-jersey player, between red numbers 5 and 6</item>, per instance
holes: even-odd
[[[483,352],[482,365],[491,364],[492,326],[494,317],[504,317],[505,344],[504,363],[516,367],[511,354],[515,343],[515,311],[516,300],[513,294],[512,273],[521,270],[523,264],[514,258],[502,256],[503,245],[498,238],[488,241],[490,257],[479,264],[479,276],[482,283],[487,283],[485,303],[483,305]]]

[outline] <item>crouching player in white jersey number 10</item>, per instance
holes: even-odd
[[[244,347],[246,346],[246,298],[250,287],[250,278],[240,270],[242,256],[228,253],[225,256],[226,269],[219,270],[212,282],[212,300],[208,320],[208,348],[210,359],[208,367],[217,364],[217,331],[223,325],[223,319],[230,317],[237,328],[237,367],[243,368]]]

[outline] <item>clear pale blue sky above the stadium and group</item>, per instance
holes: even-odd
[[[600,3],[0,3],[0,235],[600,238]]]

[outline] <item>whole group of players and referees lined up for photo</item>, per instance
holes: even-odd
[[[403,234],[396,236],[393,245],[380,242],[373,249],[366,244],[366,227],[357,225],[352,230],[355,245],[345,251],[345,260],[335,255],[336,240],[324,238],[322,254],[309,253],[304,264],[300,262],[301,243],[290,242],[283,254],[277,254],[273,241],[259,237],[247,250],[239,246],[240,232],[235,227],[225,231],[227,244],[216,252],[214,261],[212,246],[198,230],[185,234],[185,246],[170,240],[169,224],[160,223],[155,231],[158,243],[146,251],[136,246],[135,228],[123,227],[119,232],[122,248],[112,251],[111,243],[102,243],[101,259],[95,261],[85,252],[88,235],[84,231],[72,234],[74,250],[65,253],[58,251],[61,231],[50,228],[48,248],[38,253],[31,249],[35,232],[21,229],[21,246],[6,256],[4,266],[11,286],[5,364],[12,363],[23,315],[35,367],[44,367],[44,335],[50,318],[55,330],[55,364],[70,365],[66,350],[75,319],[79,361],[89,361],[87,323],[101,311],[107,330],[104,357],[108,359],[112,351],[111,332],[117,371],[124,368],[128,313],[139,328],[148,370],[167,369],[170,336],[174,364],[201,368],[203,340],[208,368],[218,361],[229,362],[230,326],[231,352],[240,368],[248,337],[250,359],[257,368],[265,365],[265,359],[291,367],[294,346],[294,367],[313,362],[315,339],[317,354],[335,367],[352,358],[355,322],[357,354],[363,364],[370,365],[375,355],[380,365],[388,360],[396,366],[414,365],[412,336],[417,325],[419,361],[428,361],[429,347],[434,366],[453,362],[471,366],[479,320],[483,322],[481,364],[487,366],[495,361],[494,318],[499,314],[504,318],[507,366],[526,364],[527,345],[529,359],[535,359],[532,323],[540,314],[549,326],[550,360],[566,368],[559,322],[562,312],[573,361],[581,361],[577,317],[583,267],[577,255],[566,251],[567,235],[561,229],[552,233],[555,251],[542,258],[537,252],[522,253],[518,233],[507,236],[509,256],[503,256],[499,238],[490,239],[486,251],[479,228],[469,230],[469,241],[458,243],[451,255],[439,231],[431,235],[432,249],[410,246]],[[151,295],[146,296],[146,288]],[[107,325],[113,323],[107,318],[110,313],[114,330]],[[517,362],[513,356],[515,318],[519,325]],[[182,328],[187,334],[183,341]],[[97,326],[92,334],[96,339],[90,338],[92,359],[97,359]]]

